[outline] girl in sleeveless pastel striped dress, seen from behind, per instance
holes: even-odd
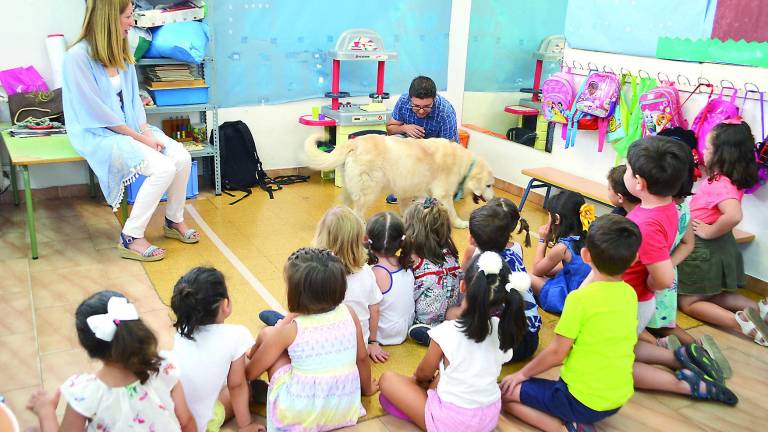
[[[285,264],[288,310],[259,332],[246,368],[249,380],[269,375],[267,430],[326,431],[365,415],[360,394],[378,390],[371,378],[363,327],[342,303],[342,261],[325,249],[302,248]]]

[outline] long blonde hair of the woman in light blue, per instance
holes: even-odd
[[[133,54],[120,26],[120,16],[131,0],[88,0],[83,29],[75,44],[85,40],[91,57],[105,67],[124,69],[133,64]]]

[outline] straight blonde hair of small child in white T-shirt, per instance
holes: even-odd
[[[364,230],[363,221],[349,207],[336,206],[320,219],[312,245],[333,252],[344,265],[344,271],[352,274],[368,261]]]

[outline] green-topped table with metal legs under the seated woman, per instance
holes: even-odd
[[[6,128],[7,124],[3,125]],[[69,142],[67,135],[51,135],[47,137],[17,138],[5,130],[0,135],[8,155],[11,158],[11,187],[13,188],[14,204],[19,205],[19,188],[17,185],[16,169],[21,169],[24,179],[24,201],[27,206],[27,230],[29,231],[29,243],[32,249],[32,259],[38,258],[37,232],[35,230],[35,210],[32,205],[32,189],[29,181],[29,167],[31,165],[44,165],[65,162],[84,161]],[[93,172],[89,169],[88,176],[91,185],[91,196],[96,195],[96,186],[93,180]]]

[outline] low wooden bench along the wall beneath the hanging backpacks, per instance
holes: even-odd
[[[546,195],[544,195],[544,205],[546,205],[552,187],[577,192],[586,199],[613,207],[608,197],[608,185],[606,184],[551,167],[527,168],[522,170],[522,173],[530,177],[531,180],[528,182],[528,186],[525,188],[525,192],[523,192],[523,197],[520,199],[520,211],[523,211],[523,206],[526,199],[528,199],[528,193],[531,189],[547,189]],[[736,237],[737,243],[749,243],[755,239],[754,234],[737,228],[733,229],[733,236]]]

